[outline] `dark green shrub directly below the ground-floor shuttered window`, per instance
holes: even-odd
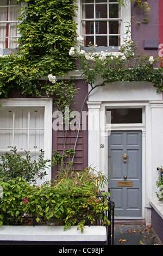
[[[13,154],[5,153],[0,156],[0,179],[8,181],[16,177],[24,178],[27,182],[34,182],[36,179],[42,179],[46,173],[47,163],[44,160],[44,152],[40,150],[38,160],[32,160],[29,151],[24,150],[25,157],[17,154],[16,147],[11,147]]]

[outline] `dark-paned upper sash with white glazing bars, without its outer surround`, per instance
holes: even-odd
[[[121,36],[121,7],[116,0],[82,1],[84,46],[118,46]]]

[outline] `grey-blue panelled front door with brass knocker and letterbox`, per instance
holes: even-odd
[[[116,218],[141,218],[141,131],[113,131],[108,137],[108,180]]]

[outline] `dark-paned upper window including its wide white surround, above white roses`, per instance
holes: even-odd
[[[122,7],[117,0],[78,0],[78,34],[84,38],[83,46],[114,48],[124,42],[124,34],[130,22],[130,2]],[[114,47],[113,47],[114,46]]]

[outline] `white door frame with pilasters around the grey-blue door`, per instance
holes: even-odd
[[[152,182],[152,119],[149,101],[102,102],[87,101],[91,116],[96,113],[99,130],[89,130],[89,166],[108,175],[108,136],[112,131],[142,131],[142,218],[148,217],[148,198],[151,198]],[[106,124],[106,108],[142,108],[142,124]],[[89,127],[92,120],[89,119]],[[96,139],[95,139],[96,138]],[[100,147],[104,145],[104,147]],[[105,188],[107,190],[107,188]],[[150,211],[151,212],[151,211]],[[150,215],[150,214],[149,214]]]

